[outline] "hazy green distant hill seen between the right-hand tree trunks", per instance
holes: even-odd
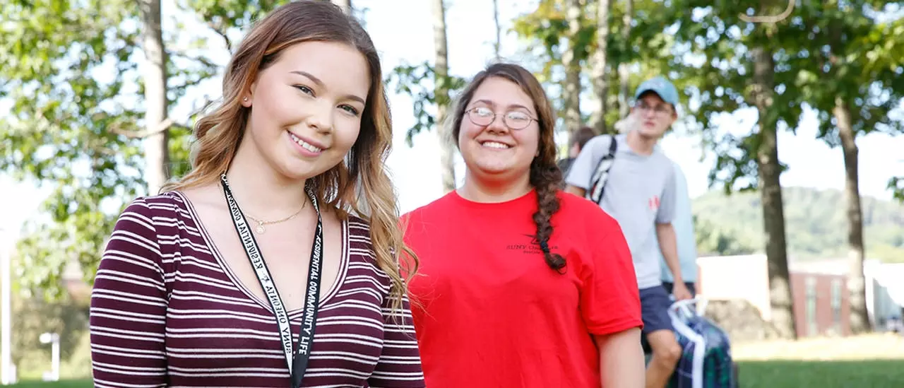
[[[788,254],[796,259],[847,255],[844,196],[838,190],[786,187]],[[862,197],[863,234],[868,259],[904,262],[904,205]],[[763,213],[758,193],[710,192],[693,200],[700,254],[763,251]]]

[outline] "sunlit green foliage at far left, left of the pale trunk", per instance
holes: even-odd
[[[53,189],[43,203],[50,222],[19,243],[16,279],[56,296],[67,262],[88,269],[97,261],[113,221],[101,203],[117,204],[141,185],[139,144],[111,130],[141,118],[138,31],[119,28],[137,22],[138,9],[123,0],[42,0],[0,12],[0,96],[13,101],[0,118],[0,166]]]

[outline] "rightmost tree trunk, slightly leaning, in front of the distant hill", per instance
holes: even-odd
[[[857,144],[852,127],[851,109],[846,101],[835,99],[833,115],[837,120],[838,136],[842,140],[844,154],[844,199],[847,201],[848,218],[848,260],[851,270],[848,272],[847,287],[851,303],[849,317],[852,334],[870,331],[870,316],[866,310],[866,279],[863,277],[863,212],[860,203],[860,187],[858,185]]]

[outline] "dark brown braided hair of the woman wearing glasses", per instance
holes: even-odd
[[[537,192],[537,213],[533,213],[533,222],[537,224],[537,242],[543,251],[543,258],[552,270],[565,272],[565,258],[559,253],[551,251],[549,242],[552,236],[552,214],[559,211],[558,193],[562,181],[562,173],[556,164],[556,143],[553,134],[555,128],[555,115],[546,97],[546,92],[533,74],[523,67],[513,63],[494,63],[480,71],[467,85],[458,97],[453,115],[449,118],[452,128],[452,140],[458,145],[458,133],[461,131],[462,119],[465,117],[467,104],[471,102],[474,93],[484,80],[491,77],[500,77],[511,80],[521,86],[521,89],[531,96],[534,108],[537,110],[538,123],[540,125],[540,142],[537,156],[531,162],[530,182]]]

